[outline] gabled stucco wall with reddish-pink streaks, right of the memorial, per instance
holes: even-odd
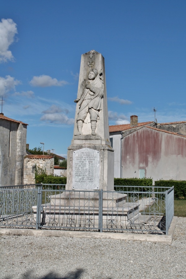
[[[186,137],[143,127],[122,140],[122,175],[186,180]]]

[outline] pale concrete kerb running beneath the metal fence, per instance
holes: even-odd
[[[0,228],[0,236],[58,236],[58,237],[78,237],[78,238],[104,238],[104,239],[121,239],[152,241],[161,243],[171,243],[178,217],[173,217],[170,224],[168,235],[143,234],[143,233],[122,233],[122,232],[78,232],[62,230],[36,230],[36,229],[15,229]]]

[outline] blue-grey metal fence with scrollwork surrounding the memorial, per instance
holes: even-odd
[[[174,187],[65,190],[64,184],[0,187],[0,227],[168,234]]]

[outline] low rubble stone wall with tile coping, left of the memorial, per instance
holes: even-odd
[[[46,168],[48,175],[54,174],[54,158],[51,159],[24,159],[24,184],[35,183],[35,164],[40,169]]]

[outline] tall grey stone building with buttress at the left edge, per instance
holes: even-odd
[[[0,186],[23,184],[27,125],[0,113]]]

